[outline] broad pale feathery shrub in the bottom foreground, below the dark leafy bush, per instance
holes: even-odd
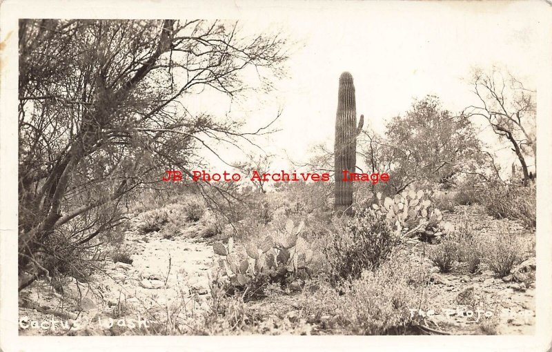
[[[407,333],[422,317],[410,309],[426,310],[424,290],[428,267],[413,265],[406,255],[393,253],[374,271],[364,271],[338,292],[319,283],[315,292],[304,293],[299,300],[304,315],[334,333],[384,335]]]

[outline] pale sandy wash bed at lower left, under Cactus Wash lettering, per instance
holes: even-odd
[[[166,314],[167,309],[184,311],[192,319],[201,315],[209,309],[208,277],[214,254],[205,239],[186,236],[196,230],[195,226],[171,239],[157,232],[141,235],[133,226],[125,236],[125,245],[134,251],[132,264],[108,262],[92,275],[94,289],[77,285],[75,279],[64,285],[63,293],[52,290],[47,282],[34,283],[20,295],[20,321],[28,317],[20,322],[20,333],[132,335],[137,329],[159,331],[161,326],[155,326],[160,322],[157,313]],[[33,321],[51,322],[52,315],[57,329],[46,323],[33,328]],[[73,329],[65,329],[72,323]],[[136,326],[129,327],[132,323]]]

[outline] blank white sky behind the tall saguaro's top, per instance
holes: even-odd
[[[276,81],[273,92],[215,99],[215,104],[208,94],[195,98],[197,109],[242,119],[248,130],[268,123],[281,108],[274,125],[281,130],[257,139],[266,153],[277,155],[277,167],[292,170],[287,157],[305,162],[315,144],[333,146],[337,85],[344,71],[353,75],[357,115],[364,114],[365,126],[379,133],[413,99],[428,94],[440,97],[453,113],[477,104],[467,81],[475,67],[507,69],[525,86],[536,88],[542,42],[539,2],[366,1],[341,8],[313,3],[293,10],[273,8],[272,17],[245,13],[240,19],[245,33],[277,30],[296,42],[288,77]],[[496,144],[489,128],[480,137],[499,150],[502,164],[511,164],[509,148]],[[214,172],[228,169],[206,156]],[[233,148],[222,148],[221,156],[227,162],[244,158]]]

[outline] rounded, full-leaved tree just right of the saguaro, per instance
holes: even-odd
[[[404,117],[394,117],[385,137],[370,136],[362,150],[369,168],[389,172],[387,182],[400,193],[413,182],[447,183],[482,164],[480,141],[470,121],[442,108],[428,95],[416,100]]]

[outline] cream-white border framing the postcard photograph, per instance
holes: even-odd
[[[504,5],[509,1],[503,1]],[[362,20],[363,10],[393,12],[420,6],[421,2],[400,1],[4,1],[0,7],[0,41],[6,39],[1,55],[0,82],[0,348],[3,351],[97,351],[127,349],[129,351],[170,351],[177,346],[190,351],[250,350],[310,350],[334,351],[346,349],[423,349],[424,351],[551,351],[552,319],[552,206],[550,137],[552,117],[552,6],[534,1],[540,6],[537,21],[542,28],[538,43],[542,55],[535,62],[542,70],[538,81],[538,222],[537,222],[537,324],[535,335],[522,336],[228,336],[228,337],[19,337],[17,331],[17,81],[19,18],[226,18],[247,19],[270,16],[271,19],[302,16],[313,12],[328,14],[328,19],[348,17]],[[424,2],[426,4],[427,2]],[[459,2],[435,3],[458,8]],[[462,2],[477,12],[491,1]],[[466,15],[462,13],[460,15]],[[523,16],[523,14],[520,14]],[[459,55],[461,55],[459,53]]]

